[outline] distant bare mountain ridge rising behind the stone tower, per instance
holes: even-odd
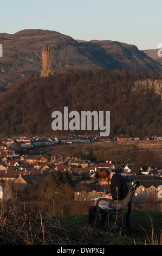
[[[59,32],[25,29],[15,34],[0,34],[3,57],[0,62],[0,89],[6,90],[29,74],[40,76],[42,47],[50,45],[56,72],[111,69],[162,74],[162,66],[137,46],[118,41],[82,41]]]

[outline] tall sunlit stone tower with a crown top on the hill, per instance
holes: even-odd
[[[54,69],[51,65],[51,48],[46,44],[42,49],[42,70],[41,77],[48,77],[54,74]]]

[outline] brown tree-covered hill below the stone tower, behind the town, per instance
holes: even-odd
[[[150,87],[147,80],[152,81]],[[111,136],[161,135],[161,95],[151,86],[156,80],[161,81],[161,76],[107,69],[30,77],[0,94],[0,132],[8,136],[58,135],[59,131],[51,129],[51,113],[63,113],[68,106],[69,112],[110,111]],[[85,131],[70,133],[82,135]],[[69,135],[69,131],[63,134]]]

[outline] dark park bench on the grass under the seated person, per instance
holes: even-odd
[[[134,186],[130,188],[127,196],[122,200],[111,200],[104,197],[98,199],[96,202],[97,209],[95,212],[95,226],[97,228],[103,227],[105,225],[106,220],[116,221],[117,218],[114,219],[112,216],[113,215],[118,216],[119,214],[121,214],[122,215],[121,222],[116,221],[118,223],[118,226],[121,228],[121,230],[123,230],[124,224],[126,221],[126,227],[127,229],[129,229],[130,228],[129,215],[131,214],[132,197],[138,185],[139,185],[139,181],[136,181]],[[103,205],[100,204],[101,201],[105,201],[113,204],[122,204],[123,207],[120,210],[114,210],[114,209],[109,209],[108,205],[104,205],[104,209],[103,209]],[[101,214],[101,220],[99,220],[99,214]]]

